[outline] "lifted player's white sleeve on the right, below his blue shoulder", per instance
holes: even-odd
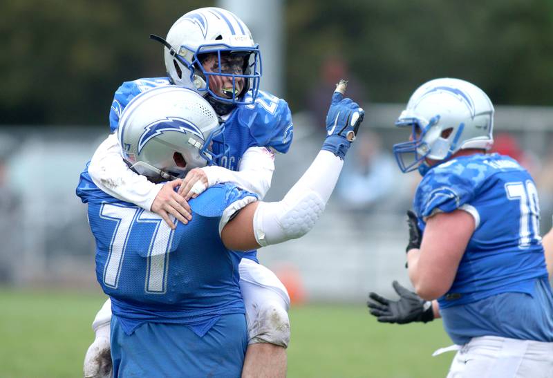
[[[219,182],[234,182],[238,187],[256,193],[263,199],[271,187],[274,153],[266,147],[250,147],[242,156],[238,171],[214,165],[202,169],[209,187]]]

